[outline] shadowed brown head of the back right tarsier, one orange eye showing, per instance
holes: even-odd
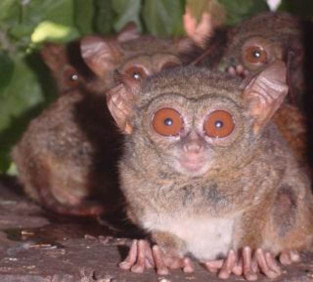
[[[262,71],[274,60],[283,60],[287,64],[289,91],[294,91],[289,96],[292,102],[300,103],[304,91],[304,47],[297,17],[263,12],[231,27],[227,37],[219,69],[245,77]]]

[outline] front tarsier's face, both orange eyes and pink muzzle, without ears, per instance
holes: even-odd
[[[204,94],[194,101],[178,93],[174,98],[164,94],[147,109],[144,126],[177,172],[198,176],[217,165],[225,148],[241,140],[244,128],[239,107],[215,95]]]

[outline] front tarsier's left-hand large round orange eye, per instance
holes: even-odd
[[[163,108],[154,113],[152,126],[160,135],[176,136],[183,129],[183,120],[176,110]]]

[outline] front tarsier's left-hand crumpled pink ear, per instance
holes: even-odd
[[[106,104],[117,127],[123,133],[130,134],[132,105],[138,95],[140,81],[122,74],[119,74],[119,80],[121,82],[117,86],[106,92]]]

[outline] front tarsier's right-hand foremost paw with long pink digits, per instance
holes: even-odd
[[[242,248],[239,254],[230,250],[225,259],[204,262],[204,266],[209,272],[218,272],[220,279],[227,279],[234,274],[243,276],[248,281],[254,281],[257,279],[258,272],[271,279],[281,274],[280,267],[271,253],[257,249],[252,256],[249,247]]]

